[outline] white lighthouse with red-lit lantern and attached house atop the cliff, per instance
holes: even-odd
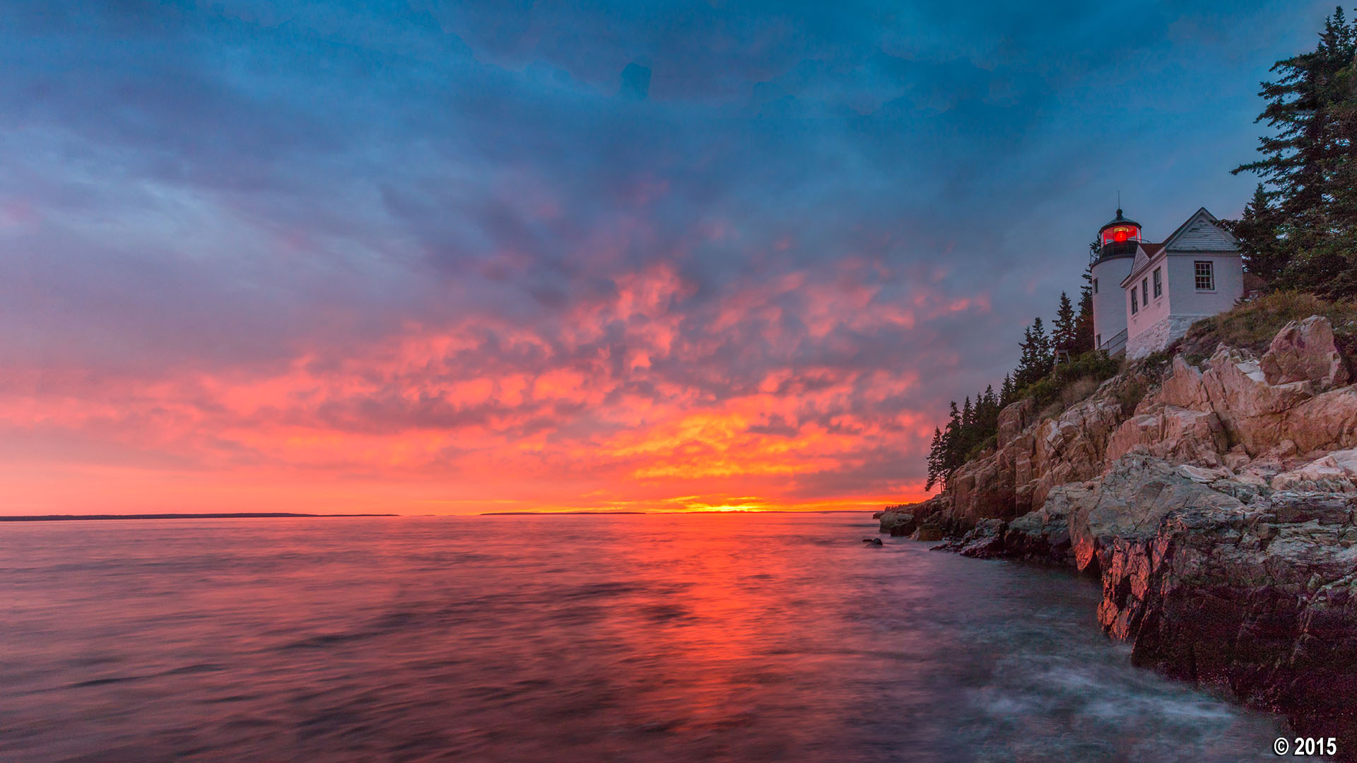
[[[1098,231],[1090,265],[1094,342],[1130,360],[1162,350],[1194,320],[1224,312],[1244,293],[1239,243],[1205,208],[1163,243],[1141,238],[1140,223],[1117,217]]]

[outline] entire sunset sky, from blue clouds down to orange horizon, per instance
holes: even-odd
[[[1026,5],[0,0],[0,513],[917,500],[1333,11]]]

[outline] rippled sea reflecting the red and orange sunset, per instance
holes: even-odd
[[[1266,760],[1096,585],[866,515],[0,527],[4,760]]]

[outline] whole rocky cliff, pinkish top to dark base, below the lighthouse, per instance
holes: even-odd
[[[1125,369],[1000,415],[996,447],[882,531],[1102,578],[1137,664],[1228,687],[1357,759],[1357,384],[1324,318],[1261,356]]]

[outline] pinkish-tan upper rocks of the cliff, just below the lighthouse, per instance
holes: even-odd
[[[1126,455],[1229,468],[1234,481],[1217,491],[1251,500],[1304,466],[1272,459],[1281,444],[1311,460],[1357,445],[1357,386],[1335,387],[1348,380],[1333,329],[1312,316],[1282,329],[1261,361],[1220,346],[1205,371],[1182,356],[1162,379],[1132,368],[1044,420],[1033,401],[1019,401],[999,413],[996,447],[950,477],[943,510],[962,532],[987,519],[1016,520],[1041,509],[1060,485],[1096,479]],[[1125,410],[1124,399],[1136,399],[1126,392],[1141,384],[1152,392]],[[1280,485],[1303,482],[1288,477]]]

